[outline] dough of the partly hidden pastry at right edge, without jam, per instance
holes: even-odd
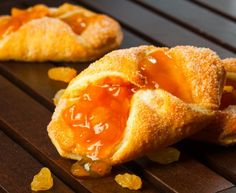
[[[236,73],[236,58],[226,58],[222,63],[229,76]],[[192,138],[224,146],[236,144],[236,105],[217,110],[211,123]]]

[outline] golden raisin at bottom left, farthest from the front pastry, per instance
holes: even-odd
[[[53,186],[53,178],[48,168],[44,167],[36,174],[31,182],[31,190],[49,190]]]

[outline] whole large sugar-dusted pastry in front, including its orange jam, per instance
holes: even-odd
[[[113,51],[73,79],[48,134],[61,156],[112,165],[162,149],[211,121],[224,69],[206,48]]]

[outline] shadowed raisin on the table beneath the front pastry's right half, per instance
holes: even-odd
[[[180,151],[173,147],[167,147],[158,152],[150,153],[147,156],[150,160],[159,164],[170,164],[179,160]]]

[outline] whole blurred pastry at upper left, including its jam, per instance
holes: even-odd
[[[0,60],[91,61],[121,41],[114,19],[68,3],[13,8],[0,17]]]

